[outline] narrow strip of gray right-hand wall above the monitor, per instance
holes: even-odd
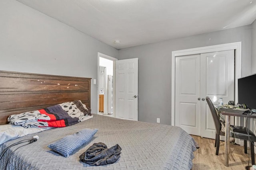
[[[252,23],[252,74],[256,73],[256,20]]]

